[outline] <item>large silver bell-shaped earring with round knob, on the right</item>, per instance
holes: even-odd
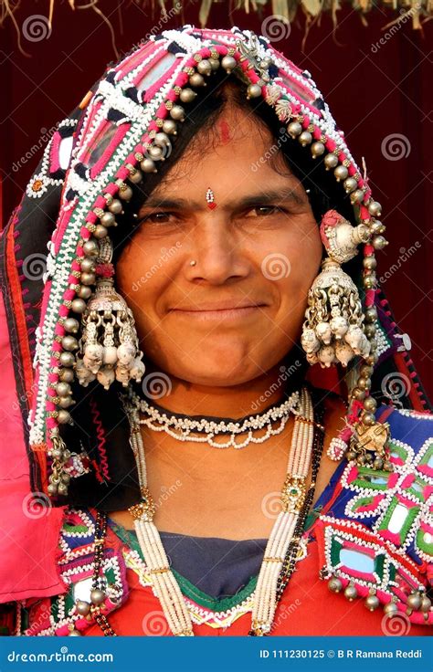
[[[347,366],[355,355],[366,357],[370,341],[364,334],[364,314],[354,281],[341,264],[357,254],[368,240],[366,226],[352,226],[335,210],[322,217],[321,236],[328,256],[308,294],[301,345],[310,364]]]

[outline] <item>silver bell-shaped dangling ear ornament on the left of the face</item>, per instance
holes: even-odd
[[[105,237],[96,260],[96,289],[81,318],[76,364],[83,387],[97,379],[106,390],[115,380],[124,387],[132,379],[140,381],[145,371],[132,310],[114,289],[111,258],[111,240]]]

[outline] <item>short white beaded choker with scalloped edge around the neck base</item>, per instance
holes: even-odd
[[[134,407],[147,417],[140,418],[140,425],[146,425],[153,432],[165,432],[178,441],[193,441],[195,443],[207,443],[214,448],[244,448],[249,443],[262,444],[269,436],[280,434],[289,420],[290,413],[297,414],[300,404],[299,392],[290,394],[290,397],[279,406],[272,406],[263,415],[250,415],[242,424],[238,422],[213,420],[191,420],[179,418],[175,415],[160,413],[157,408],[141,399],[138,394],[132,393],[131,401]],[[272,422],[280,420],[280,425],[273,429]],[[253,436],[253,431],[267,427],[263,436]],[[236,436],[248,432],[247,438],[242,442],[236,441]],[[206,434],[206,436],[193,436],[192,433]],[[226,443],[214,441],[214,436],[230,433]]]

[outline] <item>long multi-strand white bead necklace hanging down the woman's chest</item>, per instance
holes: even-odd
[[[156,507],[147,487],[147,471],[139,409],[123,398],[131,425],[131,446],[136,459],[143,500],[129,508],[147,571],[152,574],[154,593],[159,597],[167,623],[177,636],[194,636],[191,615],[179,584],[170,569],[160,534],[153,524]],[[277,608],[277,584],[286,552],[306,496],[306,481],[312,460],[313,409],[306,387],[301,390],[299,413],[295,417],[287,477],[281,491],[282,510],[272,528],[254,593],[252,629],[269,633]]]

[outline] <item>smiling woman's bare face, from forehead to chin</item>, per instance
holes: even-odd
[[[297,341],[322,243],[301,183],[281,156],[279,173],[269,162],[284,136],[233,109],[212,134],[153,191],[116,278],[156,370],[226,386],[266,373]]]

